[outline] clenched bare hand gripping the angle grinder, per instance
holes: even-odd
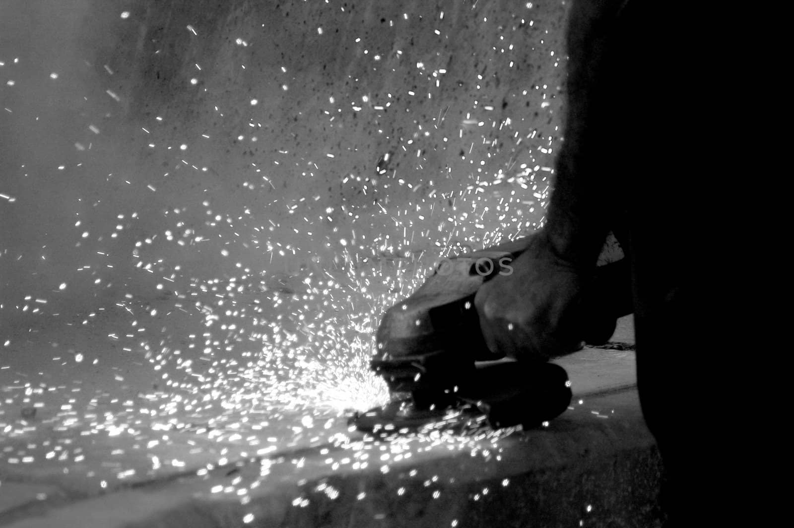
[[[495,276],[476,294],[488,349],[518,360],[546,360],[579,349],[583,270],[558,257],[543,232],[530,237],[510,266],[509,275]]]

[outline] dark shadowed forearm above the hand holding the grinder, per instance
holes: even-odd
[[[622,169],[610,155],[622,134],[613,128],[615,65],[607,64],[617,5],[577,0],[569,13],[565,140],[544,236],[557,256],[576,267],[595,266],[619,208]]]

